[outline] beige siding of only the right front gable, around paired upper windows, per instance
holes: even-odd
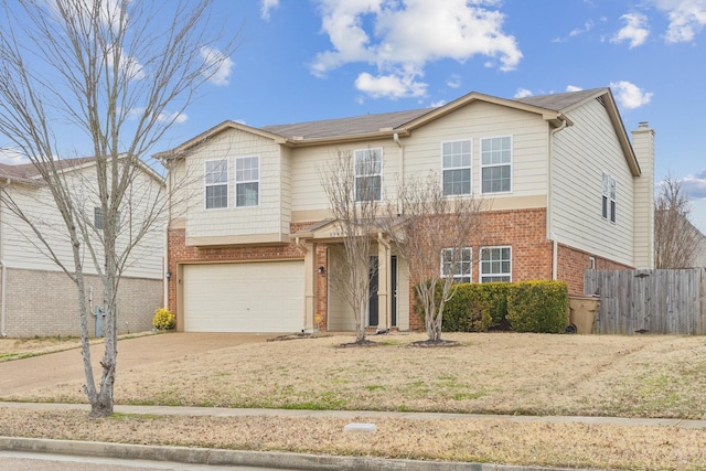
[[[546,129],[541,116],[475,101],[415,130],[411,137],[402,140],[405,146],[405,174],[424,175],[429,169],[440,173],[441,142],[472,139],[472,191],[479,195],[481,139],[511,136],[512,192],[486,194],[484,197],[500,200],[546,195]],[[521,201],[517,204],[522,206]]]

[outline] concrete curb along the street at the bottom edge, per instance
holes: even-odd
[[[186,464],[282,468],[312,471],[578,471],[545,468],[451,461],[393,460],[368,457],[334,457],[269,451],[237,451],[211,448],[158,447],[100,441],[49,440],[0,437],[0,450],[73,454],[114,459],[171,461]]]

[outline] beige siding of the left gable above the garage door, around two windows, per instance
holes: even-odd
[[[259,201],[256,206],[236,207],[235,165],[242,157],[259,158]],[[204,162],[227,159],[228,205],[206,210],[204,204]],[[282,208],[289,184],[282,176],[287,158],[271,139],[231,129],[212,138],[189,158],[190,195],[186,237],[285,234],[289,232],[290,210]]]

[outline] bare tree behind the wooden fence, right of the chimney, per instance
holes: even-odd
[[[682,183],[667,175],[654,202],[654,259],[656,268],[691,268],[696,263],[699,232],[689,222],[688,197]]]

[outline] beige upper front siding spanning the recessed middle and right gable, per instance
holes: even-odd
[[[328,199],[321,186],[320,172],[339,151],[383,149],[383,199],[394,200],[404,171],[405,176],[425,176],[430,170],[441,175],[441,142],[472,139],[472,189],[480,194],[480,143],[482,138],[512,136],[513,191],[486,194],[486,200],[509,200],[503,208],[525,207],[523,197],[543,196],[546,205],[547,189],[547,125],[541,116],[484,103],[473,103],[452,115],[439,118],[411,136],[400,138],[403,149],[389,139],[371,140],[341,146],[321,146],[292,149],[291,204],[295,212],[325,210]],[[403,163],[404,154],[404,163]],[[441,181],[439,180],[439,185]]]

